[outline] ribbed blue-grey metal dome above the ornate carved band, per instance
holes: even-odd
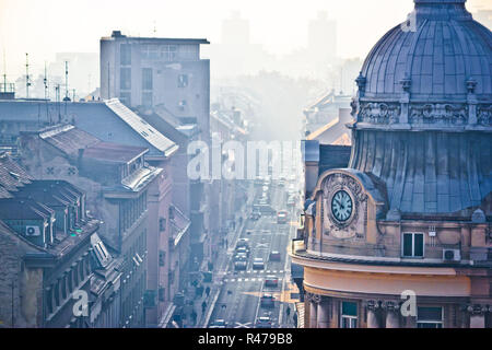
[[[395,26],[367,56],[361,97],[478,101],[492,97],[492,33],[473,21],[466,0],[414,0],[408,21]]]

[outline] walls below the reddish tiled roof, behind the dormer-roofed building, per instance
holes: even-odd
[[[144,325],[143,293],[147,285],[148,264],[145,254],[149,225],[147,200],[144,200],[144,208],[138,209],[140,211],[133,210],[136,214],[132,215],[132,222],[124,231],[121,228],[121,221],[125,220],[122,206],[125,201],[131,199],[106,198],[103,194],[102,184],[90,178],[89,173],[87,177],[82,176],[77,163],[67,160],[59,151],[40,141],[37,136],[25,136],[21,143],[22,164],[35,178],[66,179],[86,192],[86,209],[91,215],[96,215],[97,219],[103,221],[99,230],[101,235],[106,243],[121,254],[128,268],[126,275],[121,278],[124,282],[120,290],[120,326],[142,327]],[[75,172],[69,172],[69,168],[73,167]],[[144,196],[145,191],[140,196]],[[137,266],[133,261],[136,253],[144,260],[140,266]],[[130,318],[130,316],[132,317]]]

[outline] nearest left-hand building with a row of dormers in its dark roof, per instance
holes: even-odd
[[[97,235],[85,194],[34,179],[0,154],[1,327],[119,326],[121,260]]]

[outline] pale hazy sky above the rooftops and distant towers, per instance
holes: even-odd
[[[492,9],[492,0],[468,0]],[[101,36],[124,34],[207,37],[220,42],[221,21],[233,11],[250,21],[251,42],[278,55],[306,46],[307,22],[318,11],[338,21],[340,56],[364,57],[372,45],[412,10],[412,0],[0,0],[0,50],[9,75],[33,71],[55,52],[98,52]],[[1,57],[3,73],[3,57]]]

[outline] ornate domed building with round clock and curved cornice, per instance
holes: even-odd
[[[492,34],[414,2],[356,79],[348,166],[306,162],[306,327],[492,327]]]

